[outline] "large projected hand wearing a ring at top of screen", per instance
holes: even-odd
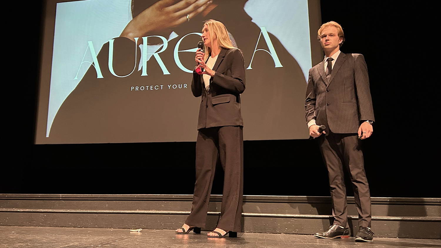
[[[177,2],[177,3],[176,3]],[[135,37],[164,34],[204,11],[213,0],[160,0],[135,16],[120,37],[135,41]],[[168,37],[167,37],[168,38]],[[139,39],[142,41],[142,39]],[[138,40],[138,41],[139,41]]]

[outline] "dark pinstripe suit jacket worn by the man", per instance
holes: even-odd
[[[315,119],[326,132],[356,133],[361,120],[374,120],[369,76],[364,57],[340,53],[329,79],[325,61],[309,70],[306,86],[306,123]]]

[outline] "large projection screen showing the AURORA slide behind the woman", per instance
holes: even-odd
[[[195,141],[200,98],[191,94],[191,71],[206,19],[224,23],[243,51],[244,139],[307,138],[306,0],[214,0],[208,13],[135,38],[137,44],[120,37],[132,16],[153,13],[156,2],[56,4],[53,50],[43,51],[52,53],[50,82],[41,82],[50,83],[49,101],[40,101],[37,120],[45,132],[37,129],[36,143]]]

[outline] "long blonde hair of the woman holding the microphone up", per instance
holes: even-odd
[[[223,23],[216,21],[216,20],[213,20],[213,19],[209,19],[209,20],[205,21],[204,25],[208,26],[208,33],[210,34],[210,40],[211,40],[212,47],[213,47],[213,38],[216,37],[217,38],[217,45],[219,46],[220,49],[222,49],[222,48],[237,49],[231,43],[230,36],[228,35],[228,30],[224,26]],[[211,48],[206,47],[204,61],[207,61],[210,53],[211,53]]]

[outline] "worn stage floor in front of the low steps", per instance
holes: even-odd
[[[374,230],[375,232],[375,230]],[[371,243],[349,239],[318,239],[312,235],[238,233],[237,238],[179,235],[173,230],[0,226],[1,248],[433,248],[441,240],[374,238]]]

